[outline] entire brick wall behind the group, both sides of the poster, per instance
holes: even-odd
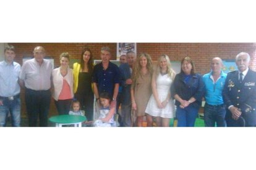
[[[72,59],[80,59],[83,47],[90,47],[93,58],[100,59],[102,46],[109,46],[113,60],[116,59],[116,43],[9,43],[15,46],[16,61],[22,63],[22,57],[33,55],[35,46],[43,46],[46,55],[54,58],[54,65],[59,66],[59,55],[69,52]],[[199,73],[210,71],[210,61],[213,57],[221,59],[234,59],[239,52],[248,52],[251,56],[250,67],[256,71],[256,43],[137,43],[137,54],[147,52],[153,60],[161,54],[167,54],[171,60],[181,60],[185,56],[191,57]],[[25,103],[22,90],[22,116],[25,116]],[[50,114],[56,115],[57,111],[52,100]]]

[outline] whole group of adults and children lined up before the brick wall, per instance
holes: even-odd
[[[211,60],[211,71],[196,73],[190,57],[181,60],[176,74],[168,55],[156,65],[142,53],[121,55],[121,65],[110,62],[109,47],[101,48],[101,62],[93,65],[90,49],[69,68],[70,55],[63,52],[60,67],[44,59],[45,49],[35,47],[34,58],[20,68],[14,62],[15,48],[7,46],[0,62],[0,126],[6,126],[8,113],[12,126],[20,126],[20,87],[25,89],[29,126],[48,126],[51,97],[59,115],[85,115],[93,126],[168,127],[171,118],[177,126],[193,127],[205,99],[205,126],[256,126],[256,73],[249,68],[250,55],[236,56],[238,70],[224,73],[220,57]],[[98,115],[93,114],[94,100]],[[121,113],[119,107],[121,107]],[[114,115],[119,114],[119,123]]]

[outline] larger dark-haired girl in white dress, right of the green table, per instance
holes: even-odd
[[[102,107],[100,108],[100,116],[93,123],[95,127],[113,127],[116,126],[116,122],[114,121],[114,114],[116,112],[116,108],[110,109],[111,99],[109,97],[108,92],[103,92],[100,94],[100,103]]]

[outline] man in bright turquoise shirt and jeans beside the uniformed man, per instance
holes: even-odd
[[[215,57],[211,61],[211,72],[203,75],[205,83],[205,126],[214,127],[215,123],[218,127],[225,127],[226,108],[224,107],[222,91],[226,81],[226,73],[224,73],[223,62],[220,57]]]

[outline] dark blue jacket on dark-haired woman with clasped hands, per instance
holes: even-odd
[[[202,97],[205,89],[202,76],[199,74],[192,75],[189,82],[186,84],[184,81],[184,73],[179,73],[176,75],[174,82],[171,86],[171,96],[179,95],[183,100],[189,100],[194,97],[196,100],[190,103],[195,108],[199,108],[202,105]],[[181,103],[175,101],[175,105],[179,106]]]

